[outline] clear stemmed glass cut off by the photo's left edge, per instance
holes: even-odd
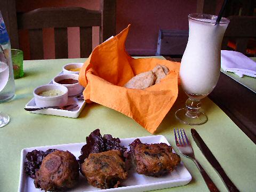
[[[2,46],[0,45],[0,92],[4,89],[9,79],[9,66],[5,57]],[[0,111],[0,128],[9,123],[10,117]]]

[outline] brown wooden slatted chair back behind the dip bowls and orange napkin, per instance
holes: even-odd
[[[55,58],[68,58],[68,27],[79,27],[81,58],[92,51],[92,27],[100,27],[99,42],[115,35],[115,1],[101,0],[101,10],[44,7],[17,15],[18,29],[28,29],[30,59],[43,59],[43,28],[54,28]]]

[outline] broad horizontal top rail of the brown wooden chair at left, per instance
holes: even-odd
[[[18,16],[19,29],[101,25],[99,11],[82,7],[43,7]]]

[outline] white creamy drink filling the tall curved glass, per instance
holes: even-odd
[[[221,42],[228,22],[215,25],[215,20],[189,15],[189,38],[180,67],[181,85],[190,94],[207,95],[220,74]]]

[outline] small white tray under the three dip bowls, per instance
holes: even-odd
[[[59,73],[58,75],[63,74],[63,71]],[[52,84],[52,81],[49,83]],[[62,110],[62,109],[42,109],[37,111],[29,111],[30,113],[35,114],[45,114],[45,115],[57,115],[57,116],[63,116],[63,117],[72,117],[77,118],[81,111],[83,110],[85,106],[85,101],[77,100],[75,97],[68,97],[68,103],[67,105],[71,104],[77,104],[78,106],[72,110]],[[31,99],[25,106],[26,108],[36,108],[35,99]]]

